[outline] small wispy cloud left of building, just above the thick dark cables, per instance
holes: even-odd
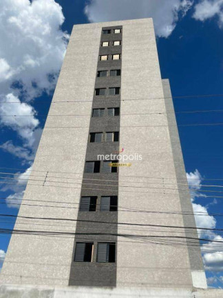
[[[21,203],[21,199],[23,198],[25,192],[25,186],[28,182],[30,172],[32,170],[32,166],[25,170],[25,172],[17,172],[14,175],[10,175],[11,178],[14,179],[4,179],[5,182],[10,182],[9,184],[5,184],[3,188],[1,188],[2,192],[6,192],[8,190],[14,192],[14,194],[9,195],[6,198],[6,203],[8,207],[11,208],[19,208],[19,204]],[[12,184],[11,184],[12,183]]]

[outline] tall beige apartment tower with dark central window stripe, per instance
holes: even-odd
[[[1,283],[206,287],[152,19],[74,26],[24,199]]]

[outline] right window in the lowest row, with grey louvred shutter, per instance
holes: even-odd
[[[105,263],[114,263],[116,261],[115,243],[98,243],[97,261]]]

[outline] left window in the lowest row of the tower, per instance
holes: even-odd
[[[93,243],[76,242],[74,261],[92,262],[93,247]]]

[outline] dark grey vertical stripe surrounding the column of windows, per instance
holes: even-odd
[[[108,27],[110,28],[123,28],[122,26],[114,26]],[[104,29],[104,28],[102,28]],[[114,41],[114,40],[122,40],[123,34],[101,34],[100,43],[102,41]],[[98,45],[99,47],[100,45]],[[111,46],[100,47],[99,54],[121,54],[122,46]],[[118,132],[120,131],[120,116],[111,115],[107,108],[120,108],[120,95],[109,95],[109,88],[117,88],[121,86],[121,76],[109,76],[110,70],[121,69],[121,60],[109,60],[109,61],[99,61],[98,59],[98,70],[108,70],[107,77],[97,77],[96,72],[96,81],[95,81],[95,89],[96,88],[107,88],[106,95],[100,95],[99,97],[95,95],[94,90],[92,90],[92,94],[94,94],[92,108],[105,108],[103,117],[92,117],[89,125],[89,133],[90,132],[103,132],[103,142],[100,143],[87,143],[87,152],[85,161],[95,161],[97,159],[97,155],[110,155],[111,153],[117,152],[119,150],[119,142],[106,142],[105,141],[105,132]],[[100,100],[98,100],[100,99]],[[99,116],[99,114],[97,114]],[[97,208],[96,212],[78,212],[78,219],[80,220],[92,220],[92,221],[109,221],[113,224],[105,225],[105,224],[92,224],[92,223],[83,223],[77,222],[76,224],[76,232],[78,233],[109,233],[112,235],[116,235],[118,232],[118,212],[111,212],[109,208],[106,210],[100,211],[100,199],[101,197],[109,197],[109,196],[118,196],[118,172],[111,173],[111,168],[109,167],[109,171],[103,172],[103,163],[100,163],[100,173],[85,173],[83,175],[83,180],[85,184],[81,187],[81,196],[90,197],[96,196],[97,200]],[[88,180],[88,179],[97,179],[97,180]],[[109,180],[109,181],[104,181]],[[113,181],[113,182],[111,182]],[[87,183],[87,184],[86,184]],[[100,183],[100,186],[96,186],[94,188],[94,184]],[[107,186],[109,184],[114,184],[117,187]],[[92,190],[87,190],[87,188],[92,188]],[[103,189],[103,190],[98,190]],[[76,242],[94,242],[94,255],[93,262],[81,262],[81,261],[73,261],[71,270],[70,270],[70,286],[116,286],[116,263],[107,263],[105,261],[97,261],[97,244],[98,242],[103,243],[115,243],[117,242],[116,236],[97,236],[97,235],[85,235],[85,236],[77,236],[74,239],[74,250],[76,247]],[[74,260],[74,251],[73,251],[73,260]]]

